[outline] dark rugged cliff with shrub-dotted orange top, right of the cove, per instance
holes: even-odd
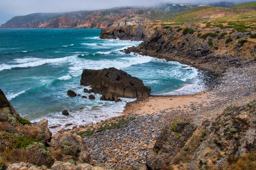
[[[201,23],[198,27],[204,26],[206,24]],[[100,38],[143,40],[141,45],[128,48],[125,52],[178,61],[218,73],[232,66],[256,61],[256,40],[250,38],[250,34],[256,32],[252,29],[242,33],[232,28],[198,27],[183,24],[175,27],[147,25],[105,28]]]

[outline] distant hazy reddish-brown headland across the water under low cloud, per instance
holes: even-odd
[[[157,15],[155,14],[157,11]],[[0,28],[107,28],[150,23],[170,16],[163,10],[111,8],[97,11],[35,13],[13,17]]]

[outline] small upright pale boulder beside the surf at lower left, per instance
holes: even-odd
[[[42,119],[41,121],[35,123],[35,126],[39,127],[39,129],[41,130],[41,132],[42,132],[41,138],[43,138],[42,140],[45,143],[51,142],[52,132],[48,128],[48,120],[47,119]]]

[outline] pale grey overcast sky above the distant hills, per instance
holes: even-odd
[[[211,3],[217,1],[224,0],[0,0],[0,24],[14,16],[35,12],[66,12],[116,6],[155,6],[160,3]]]

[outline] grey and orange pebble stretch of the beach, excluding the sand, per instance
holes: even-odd
[[[151,115],[112,118],[96,127],[89,127],[94,133],[86,136],[84,142],[95,163],[105,163],[113,169],[122,165],[145,169],[148,150],[154,146],[156,136],[164,125],[184,119],[192,119],[200,125],[206,119],[215,119],[230,105],[250,102],[256,95],[255,73],[256,65],[230,68],[221,78],[221,84],[207,92],[207,99],[202,98],[201,102],[189,106],[158,110]]]

